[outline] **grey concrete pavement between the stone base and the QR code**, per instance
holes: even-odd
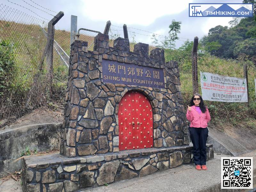
[[[156,172],[146,177],[135,178],[85,191],[199,191],[204,186],[220,181],[220,157],[214,154],[214,159],[207,162],[207,171],[197,171],[194,164]],[[225,155],[224,155],[225,156]]]

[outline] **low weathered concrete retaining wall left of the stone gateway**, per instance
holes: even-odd
[[[8,172],[19,171],[22,161],[13,162],[20,157],[26,146],[30,150],[45,151],[60,148],[61,123],[10,126],[0,131],[0,178]],[[8,171],[8,172],[5,172]]]

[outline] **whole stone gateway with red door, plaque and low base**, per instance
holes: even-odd
[[[99,33],[94,51],[71,45],[60,154],[24,158],[24,191],[76,191],[191,163],[179,69]],[[207,156],[213,158],[212,145]]]

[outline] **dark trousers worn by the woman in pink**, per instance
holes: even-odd
[[[206,164],[206,140],[208,128],[189,127],[190,138],[194,146],[194,162],[196,165]]]

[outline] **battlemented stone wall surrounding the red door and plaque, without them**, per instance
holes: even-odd
[[[102,59],[161,68],[165,88],[103,83]],[[178,65],[165,63],[164,50],[156,48],[149,55],[148,44],[138,43],[130,52],[129,40],[121,37],[112,48],[108,35],[98,34],[93,52],[87,50],[87,42],[76,40],[71,45],[68,75],[61,154],[73,157],[118,152],[118,104],[131,90],[142,92],[152,105],[154,148],[189,144]]]

